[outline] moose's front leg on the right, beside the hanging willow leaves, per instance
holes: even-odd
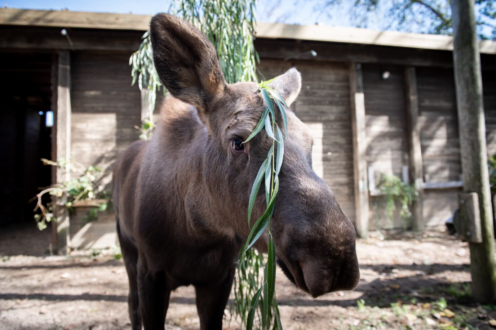
[[[222,329],[222,318],[233,286],[234,273],[233,267],[219,283],[210,286],[195,285],[200,330]]]

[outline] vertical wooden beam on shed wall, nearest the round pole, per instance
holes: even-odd
[[[408,145],[410,182],[419,192],[417,200],[413,203],[413,229],[424,229],[423,201],[424,201],[424,163],[420,145],[419,124],[419,94],[417,92],[417,76],[415,68],[405,68],[406,112],[408,122]]]

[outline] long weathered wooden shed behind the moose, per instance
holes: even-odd
[[[7,100],[1,115],[3,123],[12,123],[0,141],[2,154],[9,155],[3,173],[12,174],[0,198],[3,222],[31,219],[27,200],[36,188],[64,179],[40,166],[41,157],[99,166],[104,183],[110,182],[116,157],[138,138],[134,126],[146,113],[143,95],[130,85],[128,59],[149,20],[0,9],[1,91]],[[312,130],[314,170],[359,233],[391,227],[374,188],[381,174],[416,184],[416,228],[442,225],[458,208],[462,169],[451,37],[258,23],[255,48],[265,78],[293,66],[301,71],[303,88],[292,108]],[[480,51],[491,155],[496,43],[483,41]],[[53,127],[46,125],[47,111],[54,114]],[[109,217],[105,228],[112,226]],[[69,240],[79,229],[73,221]]]

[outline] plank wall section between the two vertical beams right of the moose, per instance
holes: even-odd
[[[387,79],[382,78],[389,72]],[[408,165],[408,139],[404,70],[400,66],[364,64],[364,94],[367,150],[366,158],[372,166],[375,183],[381,175],[402,178],[403,166]],[[369,199],[369,227],[375,229],[403,227],[398,212],[393,224],[385,216],[382,196]]]

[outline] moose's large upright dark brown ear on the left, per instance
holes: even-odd
[[[212,43],[192,25],[165,13],[153,16],[150,37],[155,68],[167,90],[207,111],[226,87]]]

